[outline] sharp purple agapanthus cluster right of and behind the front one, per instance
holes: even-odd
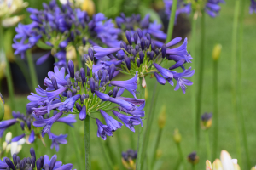
[[[146,34],[147,38],[143,37],[143,31],[138,29],[133,35],[130,31],[126,31],[126,38],[129,44],[121,42],[120,47],[117,48],[102,48],[94,46],[94,57],[102,59],[108,56],[110,60],[102,61],[96,65],[96,68],[108,67],[108,65],[119,65],[119,71],[125,74],[137,75],[143,78],[143,87],[146,86],[144,77],[154,74],[157,81],[164,85],[166,81],[172,86],[173,80],[177,81],[176,88],[182,88],[183,93],[186,91],[186,86],[190,86],[193,82],[185,79],[194,74],[194,70],[185,69],[184,64],[191,63],[191,55],[187,51],[187,38],[183,44],[177,48],[178,42],[182,41],[181,37],[174,38],[171,42],[163,44],[161,48],[157,48],[151,40],[150,34]],[[131,41],[133,37],[134,42]],[[140,41],[138,41],[140,40]],[[175,62],[169,69],[164,68],[168,60]],[[177,67],[181,67],[183,72],[173,71]],[[159,74],[160,73],[160,74]],[[161,76],[160,76],[161,75]]]

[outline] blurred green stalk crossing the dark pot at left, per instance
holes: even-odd
[[[32,88],[35,90],[35,88],[38,88],[38,77],[37,77],[37,72],[36,72],[35,65],[34,65],[34,62],[32,59],[31,50],[26,51],[26,59],[27,59],[28,67],[29,67],[30,77],[32,80]]]

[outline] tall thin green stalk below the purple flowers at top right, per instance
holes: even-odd
[[[204,54],[205,54],[205,13],[202,12],[201,16],[201,49],[200,49],[200,59],[198,59],[199,68],[198,68],[198,89],[196,96],[196,146],[199,148],[199,136],[200,136],[200,114],[201,114],[201,99],[202,99],[202,84],[204,77]]]

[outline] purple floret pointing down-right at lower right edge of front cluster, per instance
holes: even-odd
[[[112,111],[113,115],[117,116],[122,122],[125,123],[125,126],[128,127],[132,132],[135,132],[134,126],[141,124],[143,127],[143,121],[141,120],[140,116],[126,116],[118,111]]]

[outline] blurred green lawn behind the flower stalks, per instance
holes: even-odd
[[[253,165],[256,164],[256,137],[255,137],[255,119],[254,111],[256,111],[256,95],[255,95],[255,84],[256,79],[254,75],[254,71],[256,71],[256,62],[255,54],[256,54],[256,14],[249,15],[248,6],[249,1],[247,1],[246,7],[246,18],[244,21],[244,39],[243,39],[243,63],[242,63],[242,104],[243,104],[243,112],[245,115],[246,129],[247,129],[247,139],[249,145],[250,156],[252,157]],[[206,60],[205,60],[205,75],[204,75],[204,85],[203,85],[203,99],[202,99],[202,111],[211,112],[212,111],[212,48],[216,43],[221,43],[223,46],[222,54],[219,60],[218,67],[218,108],[219,108],[219,145],[218,145],[218,153],[221,150],[228,150],[230,155],[233,158],[236,158],[236,141],[235,141],[235,126],[233,113],[232,113],[232,105],[231,105],[231,95],[230,95],[230,79],[231,79],[231,68],[230,68],[230,59],[231,59],[231,33],[232,33],[232,23],[233,23],[233,10],[234,10],[234,1],[226,0],[226,4],[222,5],[221,12],[219,16],[215,19],[209,18],[207,16],[207,44],[206,44]],[[200,30],[197,32],[200,35]],[[200,37],[198,37],[199,39]],[[199,52],[197,53],[199,54]],[[197,55],[192,54],[193,62],[197,65]],[[196,69],[195,69],[196,70]],[[195,74],[197,72],[195,71]],[[149,108],[150,102],[150,94],[153,92],[155,79],[147,79],[148,85],[148,105],[146,111]],[[196,86],[196,82],[195,82]],[[16,107],[18,111],[25,112],[26,111],[26,103],[28,100],[26,96],[17,96]],[[195,150],[193,147],[193,122],[191,115],[191,92],[188,88],[187,93],[183,94],[181,90],[174,91],[173,87],[169,84],[166,86],[160,87],[159,99],[156,105],[156,111],[154,112],[154,127],[152,127],[152,133],[149,139],[149,147],[148,151],[151,152],[154,146],[154,141],[156,138],[156,133],[158,131],[157,127],[157,117],[160,112],[160,108],[163,104],[166,104],[167,111],[167,122],[166,127],[164,129],[162,139],[160,142],[160,150],[162,151],[162,156],[160,158],[163,161],[162,167],[160,169],[173,169],[178,160],[178,153],[176,144],[172,141],[172,132],[174,128],[178,128],[180,133],[182,133],[182,149],[183,154],[187,156],[191,151]],[[147,112],[146,112],[147,114]],[[213,120],[214,121],[214,120]],[[147,119],[146,121],[147,122]],[[146,123],[144,123],[144,127]],[[75,131],[78,132],[77,135],[81,136],[79,141],[79,147],[83,153],[84,150],[84,140],[80,133],[82,130],[83,124],[82,122],[77,122],[75,124]],[[61,123],[56,123],[52,130],[53,133],[59,134],[64,133],[64,129],[66,126],[63,126]],[[72,130],[72,129],[71,129]],[[201,131],[202,132],[202,131]],[[127,150],[131,148],[129,143],[129,136],[131,132],[127,130],[126,127],[123,127],[121,130],[118,130],[120,135],[122,135],[123,150]],[[212,129],[210,129],[210,134],[212,133]],[[137,139],[137,133],[133,133],[134,140]],[[212,140],[212,135],[211,135]],[[48,137],[44,138],[47,141],[47,147],[45,148],[43,144],[38,141],[38,145],[40,146],[40,154],[50,154],[54,153],[54,150],[49,150],[49,139]],[[198,152],[200,156],[200,163],[197,169],[205,168],[205,161],[207,157],[207,150],[205,146],[204,135],[201,133],[201,143],[200,150]],[[61,145],[61,151],[57,153],[59,156],[59,160],[63,156],[62,150],[66,147],[67,152],[64,163],[73,163],[74,167],[77,167],[76,164],[76,152],[73,148],[73,140],[72,135],[69,133],[67,138],[68,144],[63,146]],[[212,142],[212,141],[211,141]],[[108,138],[108,143],[112,148],[114,154],[116,155],[113,160],[121,161],[121,155],[118,153],[117,139],[116,133],[113,133],[113,138]],[[22,150],[21,155],[26,156],[29,154],[28,148],[30,146],[25,145]],[[136,148],[133,148],[136,149]],[[243,157],[245,155],[244,150]],[[149,153],[150,153],[149,152]],[[107,169],[106,162],[104,161],[102,155],[102,148],[99,144],[99,140],[96,137],[96,123],[91,122],[91,154],[92,160],[97,161],[101,167],[101,169]],[[21,156],[21,157],[22,157]],[[83,156],[84,157],[84,156]],[[84,159],[82,157],[82,159]],[[213,161],[213,160],[212,160]],[[238,160],[238,163],[241,160]],[[253,166],[252,165],[252,166]],[[190,168],[190,165],[188,165]]]

